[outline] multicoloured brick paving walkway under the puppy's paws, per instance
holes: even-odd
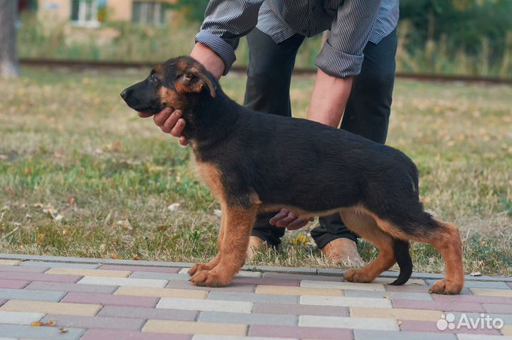
[[[428,293],[435,274],[397,287],[391,272],[360,284],[343,270],[257,267],[208,288],[188,283],[189,266],[0,254],[0,339],[512,339],[512,278],[468,277],[444,296]],[[503,327],[481,327],[487,316]]]

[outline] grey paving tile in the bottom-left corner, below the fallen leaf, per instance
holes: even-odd
[[[0,334],[20,339],[78,340],[84,329],[68,328],[61,333],[57,327],[31,327],[18,324],[0,324]]]

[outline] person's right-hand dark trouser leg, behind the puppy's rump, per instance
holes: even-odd
[[[361,73],[353,79],[341,121],[344,130],[385,143],[395,82],[396,48],[396,31],[378,44],[366,45]],[[323,217],[319,221],[320,226],[311,231],[319,248],[324,248],[337,238],[357,240],[356,235],[343,225],[339,214]]]

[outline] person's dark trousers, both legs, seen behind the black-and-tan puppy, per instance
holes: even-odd
[[[277,44],[257,28],[247,35],[249,66],[245,106],[267,114],[292,116],[290,80],[295,56],[303,40],[304,36],[296,34]],[[378,44],[366,45],[361,73],[353,79],[341,128],[378,143],[385,143],[395,82],[396,47],[395,31]],[[258,216],[251,235],[277,246],[285,228],[269,224],[274,214]],[[320,226],[311,230],[311,237],[319,248],[324,248],[336,238],[357,241],[357,236],[343,225],[339,214],[321,217],[319,221]]]

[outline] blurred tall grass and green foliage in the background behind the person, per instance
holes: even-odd
[[[46,25],[24,13],[20,57],[160,62],[190,52],[207,0],[181,0],[164,26],[111,22],[100,28]],[[512,77],[511,0],[401,0],[397,68],[402,72]],[[306,39],[297,67],[313,68],[321,36]],[[242,39],[238,65],[247,63]]]

